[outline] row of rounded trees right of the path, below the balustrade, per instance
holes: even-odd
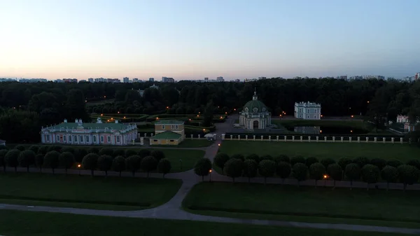
[[[404,190],[408,184],[419,181],[420,177],[420,161],[413,159],[402,163],[400,160],[384,160],[381,158],[340,158],[337,162],[332,158],[318,158],[295,156],[289,158],[287,155],[279,155],[273,158],[270,155],[258,156],[251,154],[244,156],[235,154],[229,156],[225,153],[218,153],[214,158],[214,165],[222,169],[223,174],[232,178],[244,176],[248,177],[248,181],[258,174],[264,177],[266,183],[267,178],[274,175],[279,176],[282,181],[292,176],[297,179],[297,185],[300,181],[308,178],[314,179],[315,187],[318,180],[332,179],[341,181],[346,177],[350,181],[362,180],[367,184],[367,190],[370,183],[377,183],[379,179],[386,181],[387,189],[391,182],[400,181],[404,185]],[[207,176],[211,169],[211,161],[207,158],[199,160],[194,168],[195,174]]]

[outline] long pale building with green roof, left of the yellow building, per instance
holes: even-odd
[[[59,125],[41,128],[41,142],[43,144],[71,144],[71,145],[115,145],[125,146],[134,143],[137,138],[137,125],[118,123],[83,123],[76,119],[68,123],[64,119]]]

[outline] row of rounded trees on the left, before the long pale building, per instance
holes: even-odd
[[[80,166],[78,166],[80,165]],[[171,162],[165,158],[165,153],[159,150],[149,151],[141,149],[134,151],[132,149],[121,148],[84,148],[74,149],[71,147],[61,146],[25,146],[18,145],[13,149],[0,150],[0,167],[3,167],[3,172],[6,172],[6,167],[27,168],[38,167],[42,172],[42,168],[55,169],[62,168],[82,168],[90,170],[92,176],[95,170],[105,172],[105,176],[110,170],[119,172],[130,171],[134,176],[140,169],[147,172],[157,170],[165,174],[171,171]]]

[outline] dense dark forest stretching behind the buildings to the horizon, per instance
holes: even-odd
[[[89,113],[197,113],[241,109],[258,98],[274,116],[293,114],[295,102],[317,102],[324,116],[366,115],[381,123],[399,113],[420,116],[420,83],[382,80],[344,81],[272,78],[248,83],[18,83],[0,84],[0,139],[38,141],[41,126],[64,118],[90,120]],[[139,90],[144,90],[141,97]],[[112,101],[90,105],[94,101]],[[19,135],[16,135],[19,134]]]

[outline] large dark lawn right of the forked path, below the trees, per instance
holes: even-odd
[[[415,191],[200,183],[183,201],[197,214],[420,228]]]

